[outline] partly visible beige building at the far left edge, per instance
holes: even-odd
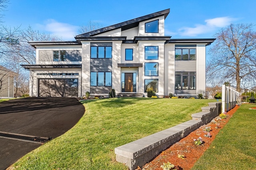
[[[0,98],[14,98],[15,72],[0,66]]]

